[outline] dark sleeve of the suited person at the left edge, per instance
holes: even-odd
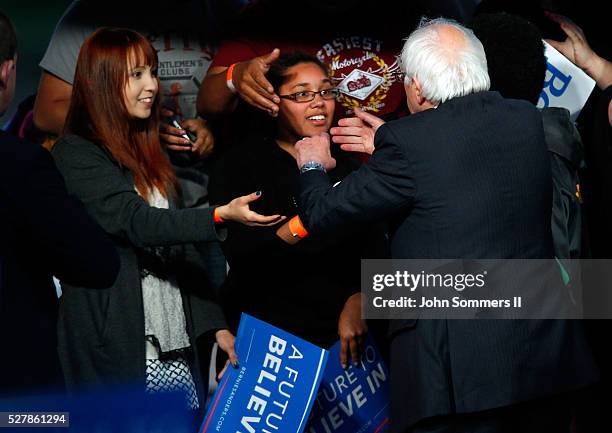
[[[15,144],[0,152],[0,188],[6,204],[29,228],[37,254],[62,281],[90,288],[111,286],[119,271],[112,241],[68,195],[51,155],[31,143]]]

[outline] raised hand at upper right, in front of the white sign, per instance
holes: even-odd
[[[572,20],[552,12],[545,12],[546,16],[558,23],[561,30],[567,35],[563,42],[546,39],[557,51],[569,61],[584,70],[597,82],[600,89],[612,84],[612,63],[600,57],[589,46],[584,32]]]

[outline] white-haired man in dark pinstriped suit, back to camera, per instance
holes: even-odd
[[[552,258],[551,173],[535,107],[487,91],[482,44],[452,21],[422,22],[401,63],[412,115],[381,125],[360,113],[377,128],[368,164],[332,188],[329,137],[296,143],[304,227],[295,235],[388,219],[394,258]],[[567,432],[559,394],[596,374],[577,326],[392,321],[391,431]]]

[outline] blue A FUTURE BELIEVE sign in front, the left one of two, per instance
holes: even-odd
[[[301,433],[328,353],[242,314],[236,335],[240,367],[228,368],[200,433]]]

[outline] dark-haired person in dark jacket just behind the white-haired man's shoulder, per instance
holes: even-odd
[[[487,55],[491,90],[505,98],[537,104],[546,74],[544,44],[538,28],[507,13],[480,14],[474,18],[472,28]],[[547,107],[541,113],[553,181],[551,230],[555,257],[578,259],[582,245],[578,178],[578,170],[584,166],[582,141],[568,110]],[[573,268],[568,261],[564,265],[567,270]]]

